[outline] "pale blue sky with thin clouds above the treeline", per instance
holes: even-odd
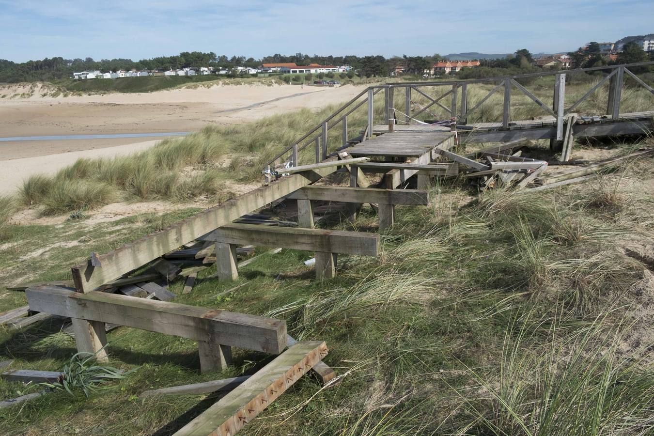
[[[652,18],[651,0],[0,0],[0,59],[561,52]]]

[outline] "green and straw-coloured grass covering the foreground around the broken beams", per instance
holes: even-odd
[[[617,246],[654,241],[651,169],[642,161],[596,186],[479,197],[460,180],[438,180],[431,207],[396,208],[382,256],[339,256],[336,278],[313,280],[302,263],[313,254],[283,250],[241,269],[237,282],[205,278],[188,295],[181,282],[171,290],[180,303],[282,318],[292,336],[324,339],[326,363],[345,375],[329,390],[302,378],[244,435],[649,434],[654,374],[651,313],[643,309],[654,278]],[[646,179],[625,185],[623,174]],[[1,280],[24,277],[26,256],[31,280],[69,278],[67,267],[90,250],[105,252],[190,213],[94,224],[92,233],[78,220],[12,226]],[[376,220],[365,207],[338,228],[375,231]],[[56,246],[63,241],[81,242]],[[48,250],[29,257],[35,247]],[[3,296],[7,309],[23,303],[22,293]],[[60,369],[74,353],[57,324],[0,334],[16,368]],[[109,352],[112,366],[133,372],[88,399],[54,392],[7,409],[0,433],[136,435],[174,422],[172,433],[187,411],[215,400],[139,400],[141,392],[251,374],[271,359],[235,349],[233,367],[199,375],[194,341],[128,327],[109,333]],[[4,397],[17,391],[31,392],[0,381]]]

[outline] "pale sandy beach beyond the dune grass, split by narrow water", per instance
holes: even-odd
[[[153,93],[0,99],[0,138],[196,131],[207,124],[237,124],[302,108],[317,109],[354,97],[362,88],[228,85]],[[20,93],[5,87],[0,95]],[[145,138],[0,142],[0,194],[35,173],[55,173],[80,157],[145,150]]]

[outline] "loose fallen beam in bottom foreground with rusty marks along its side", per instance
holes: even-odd
[[[326,356],[321,341],[299,342],[179,429],[176,436],[234,435]]]

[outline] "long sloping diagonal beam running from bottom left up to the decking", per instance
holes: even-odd
[[[336,161],[336,158],[330,158]],[[133,271],[149,261],[163,256],[171,250],[198,239],[217,227],[232,222],[252,210],[259,209],[284,195],[288,195],[320,178],[334,173],[336,167],[319,168],[298,175],[282,177],[267,186],[262,186],[223,205],[203,210],[198,214],[177,222],[162,231],[152,233],[133,243],[106,254],[97,256],[102,267],[92,267],[90,261],[73,268],[75,286],[82,292],[90,292],[116,278]]]

